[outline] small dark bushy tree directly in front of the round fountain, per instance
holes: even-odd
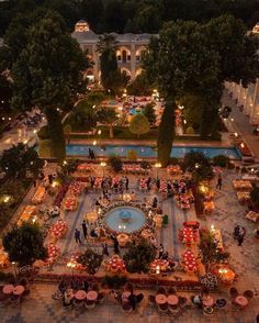
[[[148,272],[151,261],[156,258],[156,248],[143,241],[138,245],[131,244],[123,256],[126,270],[131,274]]]

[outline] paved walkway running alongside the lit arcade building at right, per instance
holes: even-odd
[[[255,154],[256,158],[259,160],[259,136],[254,135],[252,131],[255,125],[249,123],[249,118],[239,111],[235,101],[229,97],[228,92],[225,91],[222,98],[224,105],[232,108],[229,120],[226,122],[226,126],[230,132],[237,132],[246,142],[250,151]],[[234,121],[230,121],[230,119]]]

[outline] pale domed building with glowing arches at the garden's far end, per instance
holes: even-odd
[[[116,34],[111,33],[117,42],[116,58],[121,71],[134,80],[142,73],[142,56],[146,51],[146,46],[151,34]],[[83,52],[88,53],[89,58],[93,62],[93,66],[86,71],[86,76],[91,81],[100,81],[100,54],[97,45],[100,35],[89,29],[86,21],[80,20],[75,25],[72,37],[77,40]]]

